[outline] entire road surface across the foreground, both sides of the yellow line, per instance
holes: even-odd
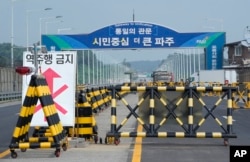
[[[135,105],[136,95],[131,94],[125,99]],[[206,103],[208,107],[212,107],[216,102],[216,98],[210,98]],[[117,101],[117,117],[120,123],[129,113],[125,110],[122,103]],[[122,108],[121,108],[122,107]],[[8,149],[10,139],[15,128],[20,104],[0,106],[0,153]],[[214,114],[224,124],[226,122],[226,101],[223,101]],[[250,146],[250,109],[236,109],[233,111],[233,132],[237,138],[229,139],[229,145],[247,145]],[[105,133],[110,129],[110,109],[106,109],[96,116],[99,127],[99,137],[104,138]],[[121,131],[135,131],[136,122],[134,117],[131,117],[127,127]],[[178,127],[178,126],[177,126]],[[175,126],[163,127],[162,130],[175,129]],[[179,129],[179,128],[176,128]],[[208,118],[201,130],[205,131],[221,131],[217,123]],[[81,147],[80,145],[84,145]],[[139,156],[134,158],[135,152],[138,152],[138,147],[141,147]],[[119,145],[106,144],[89,144],[78,143],[78,147],[71,146],[66,152],[60,156],[60,161],[142,161],[142,162],[229,162],[230,146],[224,146],[223,139],[218,138],[143,138],[138,141],[137,138],[121,138]],[[41,151],[43,153],[41,154]],[[51,150],[50,150],[51,151]],[[58,161],[59,159],[53,156],[53,153],[48,153],[45,150],[31,150],[27,153],[18,153],[20,156],[17,159],[11,159],[9,155],[0,159],[0,161]],[[53,151],[52,151],[53,152]],[[83,158],[84,157],[84,158]],[[8,160],[9,159],[9,160]]]

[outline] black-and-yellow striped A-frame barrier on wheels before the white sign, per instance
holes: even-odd
[[[38,100],[48,122],[51,138],[29,137],[29,129]],[[52,140],[53,139],[53,140]],[[67,149],[67,137],[63,130],[53,98],[44,76],[32,75],[19,118],[9,145],[11,157],[16,158],[15,149],[56,148],[55,156],[60,156],[60,147]]]

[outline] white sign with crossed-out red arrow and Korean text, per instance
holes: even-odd
[[[45,76],[63,126],[73,126],[75,119],[76,51],[38,53],[38,73]],[[24,52],[23,66],[34,67],[34,54]],[[23,76],[22,99],[31,75]],[[47,126],[40,102],[31,126]]]

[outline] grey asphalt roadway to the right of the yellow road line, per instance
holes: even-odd
[[[217,97],[204,97],[208,108],[212,108]],[[242,106],[242,103],[239,103]],[[213,114],[226,124],[227,101],[224,100]],[[203,114],[207,111],[203,110]],[[142,141],[141,161],[143,162],[229,162],[230,145],[250,146],[250,109],[233,111],[233,132],[237,138],[229,139],[229,146],[221,138],[145,138]],[[200,129],[205,132],[223,132],[210,116]],[[178,129],[179,126],[168,126],[166,130]],[[225,126],[226,128],[226,126]],[[198,130],[199,131],[199,130]]]

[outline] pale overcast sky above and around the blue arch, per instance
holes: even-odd
[[[40,22],[42,33],[46,27],[48,34],[58,30],[65,34],[91,33],[132,21],[133,10],[136,21],[178,32],[225,31],[229,43],[244,39],[244,30],[250,25],[249,6],[250,0],[0,0],[0,43],[11,42],[12,7],[14,44],[26,46],[28,10],[32,10],[28,19],[30,44],[40,39]],[[45,8],[52,10],[42,11]],[[62,18],[40,21],[56,16]],[[63,30],[66,28],[71,30]]]

